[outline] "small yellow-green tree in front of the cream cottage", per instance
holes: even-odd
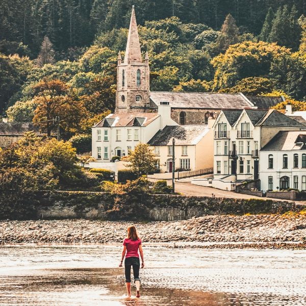
[[[139,143],[131,152],[127,161],[130,162],[127,167],[137,173],[138,177],[141,174],[147,174],[156,170],[156,159],[152,150],[147,143]]]

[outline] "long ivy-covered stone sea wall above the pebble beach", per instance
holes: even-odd
[[[172,221],[205,215],[284,213],[306,207],[286,201],[184,195],[134,195],[132,202],[131,197],[126,201],[123,198],[120,206],[115,201],[118,197],[101,192],[40,192],[34,219],[125,220],[133,216],[138,221]]]

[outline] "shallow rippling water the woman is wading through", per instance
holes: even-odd
[[[306,251],[143,249],[125,299],[120,245],[0,246],[0,305],[306,305]]]

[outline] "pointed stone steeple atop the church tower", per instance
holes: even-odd
[[[142,63],[134,5],[132,7],[132,16],[131,16],[131,23],[129,29],[129,36],[127,37],[124,63],[125,64]]]

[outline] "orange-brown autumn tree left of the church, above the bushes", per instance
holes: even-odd
[[[34,102],[37,104],[33,122],[37,123],[47,136],[55,129],[60,118],[60,127],[65,134],[71,135],[79,129],[79,122],[87,116],[82,101],[79,101],[69,87],[59,80],[47,80],[34,86]]]

